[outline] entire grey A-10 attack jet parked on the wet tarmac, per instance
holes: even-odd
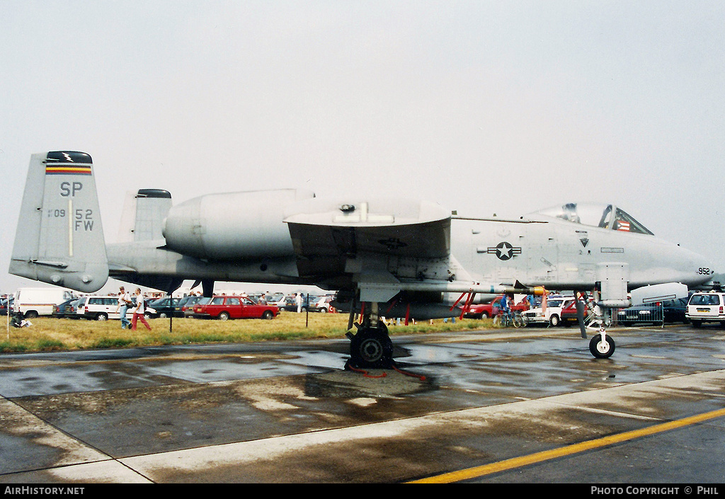
[[[320,199],[294,189],[175,206],[167,191],[141,189],[130,241],[107,245],[93,168],[83,152],[31,156],[10,273],[79,292],[97,291],[109,276],[166,292],[193,279],[207,295],[214,281],[335,290],[350,312],[352,366],[392,366],[381,316],[453,317],[456,305],[544,289],[595,290],[602,327],[589,350],[607,358],[614,342],[604,326],[631,304],[628,292],[662,299],[668,283],[679,283],[674,294],[686,295],[714,273],[704,257],[658,239],[614,205],[572,203],[502,220],[428,201]],[[580,322],[582,315],[580,307]]]

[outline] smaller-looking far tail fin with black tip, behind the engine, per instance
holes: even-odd
[[[123,207],[119,242],[164,239],[164,219],[171,208],[171,194],[162,189],[138,189],[128,195]]]

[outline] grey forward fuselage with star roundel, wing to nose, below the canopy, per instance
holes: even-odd
[[[697,286],[713,273],[705,257],[651,234],[554,218],[454,219],[451,242],[452,254],[476,279],[497,284],[591,289],[607,263],[626,265],[630,289],[667,282]]]

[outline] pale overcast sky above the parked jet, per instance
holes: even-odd
[[[725,3],[0,0],[0,291],[30,154],[127,191],[613,202],[725,272]],[[262,209],[263,207],[260,207]]]

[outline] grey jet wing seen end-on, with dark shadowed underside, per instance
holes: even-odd
[[[407,199],[324,202],[310,199],[285,218],[302,277],[349,275],[363,302],[401,291],[510,292],[474,282],[450,254],[451,214]]]

